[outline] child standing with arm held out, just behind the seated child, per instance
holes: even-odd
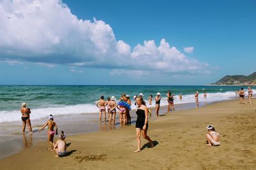
[[[41,132],[45,127],[48,126],[48,132],[47,132],[47,141],[50,143],[51,147],[49,150],[52,150],[53,147],[53,138],[54,138],[54,133],[57,135],[58,134],[58,127],[57,124],[53,121],[53,116],[49,116],[49,120],[44,124],[41,129],[39,129],[38,132]],[[56,132],[54,132],[54,127],[56,128]]]

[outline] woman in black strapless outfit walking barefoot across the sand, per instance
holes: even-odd
[[[142,131],[143,138],[147,139],[149,141],[150,148],[152,148],[154,146],[152,140],[149,138],[149,136],[147,136],[148,108],[146,106],[146,103],[145,103],[145,101],[143,101],[142,97],[137,97],[136,103],[138,105],[138,109],[136,111],[136,114],[138,115],[137,120],[136,120],[136,137],[137,137],[136,139],[137,139],[138,149],[135,150],[134,153],[141,151],[141,141],[140,141],[141,131]]]

